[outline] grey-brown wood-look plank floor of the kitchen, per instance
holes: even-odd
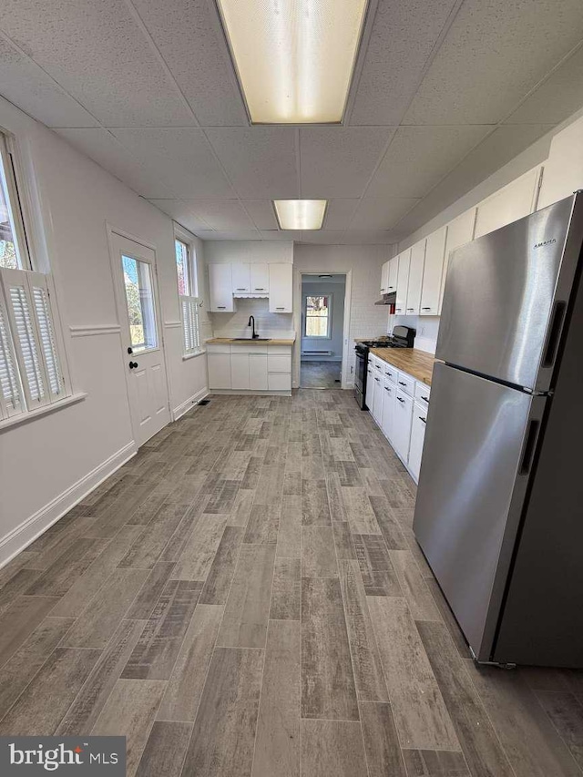
[[[352,393],[213,397],[0,570],[0,734],[133,777],[575,777],[583,672],[477,669]]]

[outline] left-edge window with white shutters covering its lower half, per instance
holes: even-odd
[[[67,395],[50,275],[31,266],[15,166],[0,135],[0,421]]]

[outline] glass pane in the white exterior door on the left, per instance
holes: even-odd
[[[129,334],[134,353],[158,347],[156,313],[150,266],[130,256],[121,258],[126,301],[128,302]]]

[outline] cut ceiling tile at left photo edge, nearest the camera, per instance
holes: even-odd
[[[84,107],[1,36],[0,94],[48,127],[97,127]]]

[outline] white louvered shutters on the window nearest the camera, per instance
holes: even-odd
[[[16,357],[13,368],[18,367],[26,408],[35,410],[65,396],[47,277],[40,272],[3,269],[0,278],[10,330],[6,341]]]

